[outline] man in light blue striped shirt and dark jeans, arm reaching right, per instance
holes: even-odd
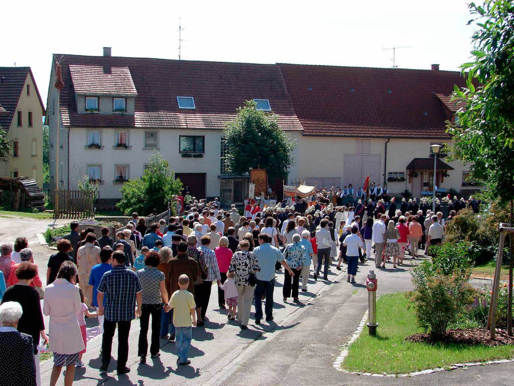
[[[266,233],[259,234],[259,247],[253,250],[253,253],[259,261],[261,270],[255,272],[257,283],[255,285],[255,324],[261,324],[262,319],[262,295],[266,294],[266,321],[273,320],[273,290],[275,287],[275,263],[280,262],[284,268],[293,276],[293,272],[284,260],[284,256],[280,250],[273,247],[270,238]]]

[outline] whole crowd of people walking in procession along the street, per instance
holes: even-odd
[[[328,280],[333,259],[337,270],[343,262],[347,265],[351,284],[356,283],[359,260],[372,255],[377,269],[385,269],[391,259],[397,268],[406,252],[417,258],[419,250],[440,244],[445,224],[458,210],[450,210],[445,219],[425,200],[397,204],[392,198],[386,205],[376,195],[367,206],[366,198],[339,206],[338,200],[336,205],[329,200],[331,191],[320,190],[314,201],[303,199],[294,206],[284,201],[252,209],[248,217],[235,205],[223,210],[217,199],[208,203],[190,197],[183,213],[169,221],[146,224],[134,213],[114,237],[107,227],[97,238],[93,228],[79,232],[79,224],[71,222],[71,232],[48,259],[44,290],[27,239],[3,243],[0,358],[12,366],[1,367],[2,384],[40,385],[39,355],[48,344],[53,353],[50,385],[57,383],[63,366],[70,385],[75,368],[84,365],[85,317],[98,318],[101,328],[101,371],[109,369],[117,328],[117,372],[130,372],[128,337],[136,316],[141,364],[149,351],[152,358],[159,357],[160,339],[168,339],[175,341],[178,365],[188,365],[192,326],[201,328],[209,320],[214,283],[227,323],[247,329],[252,303],[255,324],[263,318],[270,323],[278,270],[284,269],[283,301],[300,303],[309,275],[317,281],[323,274]],[[246,205],[258,206],[250,199]],[[43,314],[50,317],[49,337]]]

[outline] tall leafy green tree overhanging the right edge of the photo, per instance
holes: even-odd
[[[463,89],[455,86],[454,98],[465,109],[458,112],[457,126],[449,126],[453,137],[451,159],[472,162],[471,178],[483,181],[502,202],[510,201],[510,223],[514,220],[514,2],[485,0],[469,4],[473,15],[468,24],[473,33],[472,60]],[[510,242],[509,322],[512,299],[512,252]],[[508,325],[509,334],[512,326]]]

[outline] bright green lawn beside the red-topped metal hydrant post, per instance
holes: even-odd
[[[454,363],[481,362],[514,356],[514,346],[486,347],[462,344],[425,344],[406,342],[405,338],[417,332],[412,309],[405,294],[382,295],[377,301],[378,332],[368,334],[364,326],[359,338],[350,346],[342,363],[347,371],[400,374]]]

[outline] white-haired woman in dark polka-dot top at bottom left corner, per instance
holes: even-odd
[[[32,337],[17,330],[23,310],[20,303],[0,306],[0,380],[2,386],[36,386]]]

